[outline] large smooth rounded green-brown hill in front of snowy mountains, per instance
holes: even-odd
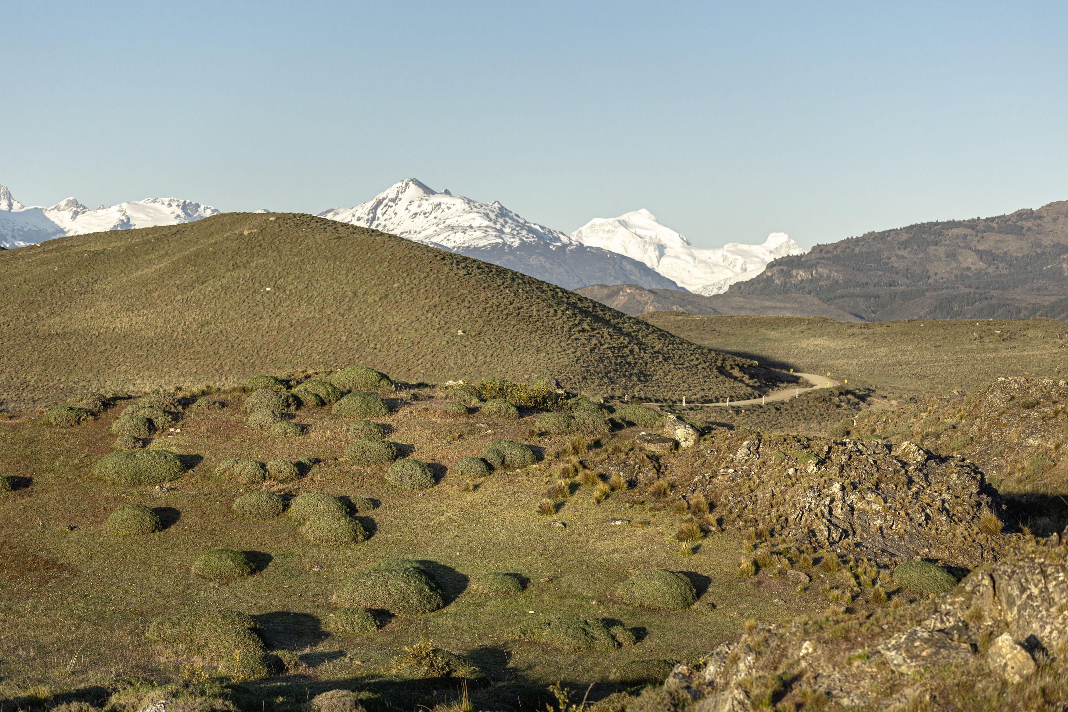
[[[752,397],[745,360],[511,270],[301,215],[226,213],[0,253],[0,406],[366,363],[407,381],[555,377]]]

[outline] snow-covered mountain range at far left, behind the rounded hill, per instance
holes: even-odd
[[[210,205],[177,197],[150,197],[95,210],[74,197],[51,207],[26,207],[0,186],[0,246],[21,248],[65,235],[192,222],[218,215]]]

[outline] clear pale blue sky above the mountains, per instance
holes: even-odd
[[[0,184],[803,246],[1068,199],[1063,2],[5,2]]]

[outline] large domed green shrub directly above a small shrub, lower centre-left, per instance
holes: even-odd
[[[444,605],[441,589],[418,561],[386,559],[342,582],[331,601],[346,607],[389,611],[407,618],[433,613]]]

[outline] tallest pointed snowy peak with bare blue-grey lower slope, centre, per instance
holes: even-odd
[[[436,192],[415,178],[402,180],[356,207],[317,215],[476,257],[567,289],[598,283],[679,288],[637,259],[577,242],[497,201],[481,203],[447,190]]]

